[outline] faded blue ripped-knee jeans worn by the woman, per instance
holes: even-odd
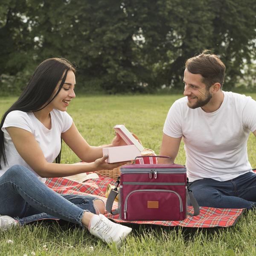
[[[0,215],[20,225],[41,219],[62,219],[80,224],[84,211],[95,213],[90,195],[60,195],[24,166],[15,165],[0,177]]]

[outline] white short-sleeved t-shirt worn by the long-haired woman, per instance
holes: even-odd
[[[52,163],[55,160],[61,150],[61,133],[67,131],[71,127],[73,120],[67,112],[58,110],[52,110],[50,115],[52,119],[52,127],[50,130],[35,117],[34,113],[12,111],[6,116],[2,131],[4,133],[4,147],[8,165],[4,166],[1,162],[3,167],[2,170],[0,170],[0,176],[15,164],[25,166],[34,172],[17,152],[12,142],[12,138],[5,129],[6,127],[13,126],[31,132],[43,151],[47,162]],[[40,177],[37,173],[35,174],[43,183],[45,183],[45,178]]]

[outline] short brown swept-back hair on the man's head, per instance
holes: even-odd
[[[220,58],[209,50],[189,58],[185,67],[190,73],[203,76],[202,82],[206,84],[207,90],[215,83],[220,83],[222,88],[226,67]]]

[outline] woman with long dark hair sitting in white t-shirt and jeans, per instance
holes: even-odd
[[[67,106],[75,98],[75,84],[75,69],[67,60],[47,59],[3,115],[0,228],[60,218],[88,228],[103,241],[119,244],[131,228],[102,215],[105,211],[102,200],[90,195],[59,195],[44,184],[46,177],[113,169],[123,164],[106,163],[108,156],[102,157],[102,147],[88,145],[67,114]],[[87,164],[60,164],[61,139]],[[117,136],[108,146],[122,143]]]

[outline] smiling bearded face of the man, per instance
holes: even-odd
[[[212,99],[212,94],[202,82],[201,74],[192,74],[187,69],[184,71],[184,96],[187,96],[189,108],[200,108]]]

